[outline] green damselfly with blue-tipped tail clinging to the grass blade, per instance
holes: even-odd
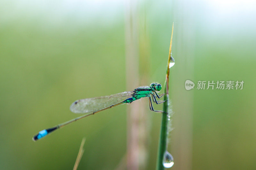
[[[148,97],[149,109],[151,111],[163,113],[163,111],[161,110],[154,110],[154,107],[152,104],[152,99],[153,99],[153,102],[155,102],[156,104],[160,104],[164,102],[164,101],[156,100],[156,98],[160,99],[162,96],[164,96],[164,93],[160,95],[157,94],[157,92],[161,91],[161,89],[162,89],[161,84],[151,83],[149,86],[141,86],[129,92],[121,92],[121,93],[112,94],[109,96],[101,96],[101,97],[95,97],[95,98],[76,100],[71,104],[69,109],[73,113],[83,113],[85,115],[76,117],[64,123],[60,123],[52,128],[41,130],[32,139],[34,141],[37,141],[38,139],[45,137],[51,132],[57,129],[60,129],[61,127],[66,126],[69,123],[75,122],[89,115],[94,115],[95,113],[109,109],[111,107],[115,107],[124,103],[130,104],[133,101],[139,100],[144,97]]]

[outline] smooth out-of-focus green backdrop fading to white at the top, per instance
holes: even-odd
[[[76,117],[69,106],[77,99],[132,90],[125,87],[126,8],[117,0],[0,1],[0,169],[72,169],[83,137],[78,169],[120,164],[132,105],[31,138]],[[148,84],[164,83],[174,22],[172,169],[256,169],[254,8],[253,1],[138,3],[150,46]],[[186,91],[187,79],[243,80],[244,88]],[[145,169],[155,169],[161,114],[147,112]]]

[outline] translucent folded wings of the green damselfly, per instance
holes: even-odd
[[[133,91],[121,92],[109,96],[76,100],[69,109],[73,113],[91,113],[128,99],[133,93]]]

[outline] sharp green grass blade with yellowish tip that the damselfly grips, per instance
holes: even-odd
[[[173,35],[173,23],[172,23],[172,35]],[[164,105],[162,113],[162,123],[160,129],[160,137],[159,137],[159,144],[158,144],[158,153],[157,153],[157,161],[156,161],[156,169],[162,170],[164,169],[163,160],[164,160],[164,153],[167,150],[167,140],[168,140],[168,115],[169,115],[169,75],[170,75],[170,62],[171,62],[171,52],[172,52],[172,36],[170,42],[170,49],[169,49],[169,57],[167,63],[167,70],[166,70],[166,78],[164,83]]]

